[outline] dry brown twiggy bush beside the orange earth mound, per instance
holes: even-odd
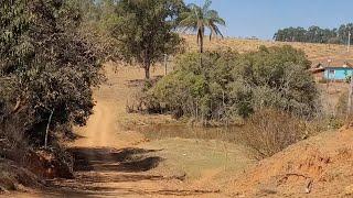
[[[257,160],[269,157],[308,135],[304,121],[271,109],[255,112],[240,131],[240,139]]]

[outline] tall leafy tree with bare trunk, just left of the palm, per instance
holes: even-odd
[[[150,67],[179,50],[181,38],[174,32],[182,0],[121,0],[117,2],[113,37],[127,62],[136,62],[150,78]]]

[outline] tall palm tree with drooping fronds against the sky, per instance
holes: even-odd
[[[206,0],[202,8],[194,3],[189,4],[188,11],[181,14],[182,20],[179,23],[183,28],[183,32],[193,31],[197,33],[200,53],[203,53],[203,37],[206,28],[210,29],[210,41],[213,35],[223,37],[217,25],[225,26],[225,21],[220,18],[217,11],[210,10],[211,3],[211,0]]]

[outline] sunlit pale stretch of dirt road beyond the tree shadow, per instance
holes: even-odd
[[[94,114],[86,127],[75,129],[83,139],[74,142],[72,147],[122,148],[143,140],[141,134],[119,125],[119,119],[127,117],[126,101],[133,92],[127,87],[128,81],[131,78],[142,79],[139,72],[139,68],[120,68],[119,73],[115,73],[113,65],[106,67],[107,81],[94,92]]]

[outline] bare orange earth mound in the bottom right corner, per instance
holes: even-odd
[[[353,130],[295,144],[238,175],[232,196],[336,197],[353,195]]]

